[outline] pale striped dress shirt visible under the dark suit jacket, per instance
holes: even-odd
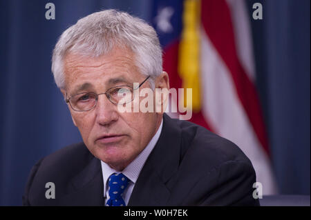
[[[138,154],[138,156],[129,164],[129,166],[126,166],[124,170],[122,170],[122,174],[124,174],[127,178],[129,178],[129,185],[126,187],[126,189],[123,192],[122,198],[124,199],[124,202],[127,206],[127,203],[129,203],[129,198],[131,197],[133,188],[135,186],[135,183],[138,179],[138,176],[140,174],[140,171],[142,170],[142,167],[144,166],[144,163],[147,161],[147,158],[149,157],[149,154],[153,150],[154,146],[156,146],[156,143],[160,137],[161,131],[162,131],[162,123],[163,119],[161,121],[160,127],[158,128],[158,131],[153,136],[151,141],[148,143],[147,147]],[[107,181],[111,174],[113,173],[120,173],[111,168],[107,163],[102,163],[102,177],[104,180],[104,198],[105,198],[105,206],[106,202],[109,199],[109,186],[107,184]]]

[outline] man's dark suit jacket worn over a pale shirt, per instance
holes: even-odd
[[[232,142],[188,121],[163,117],[163,127],[128,206],[257,206],[256,174]],[[46,199],[47,182],[55,199]],[[104,206],[100,160],[77,143],[41,159],[23,195],[28,206]]]

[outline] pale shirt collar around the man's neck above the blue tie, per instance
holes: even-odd
[[[124,170],[122,170],[122,174],[124,174],[127,178],[131,180],[132,183],[136,183],[138,176],[140,174],[140,171],[142,170],[142,167],[144,166],[144,163],[147,161],[147,158],[149,157],[149,154],[153,150],[154,146],[156,146],[156,143],[160,137],[161,131],[162,131],[162,125],[163,125],[163,119],[161,121],[160,127],[158,128],[156,134],[153,136],[151,141],[149,141],[148,145],[138,156],[129,164],[129,166],[126,166]],[[107,180],[113,173],[120,173],[111,168],[107,163],[104,161],[100,161],[102,163],[102,177],[104,180],[104,197],[106,197],[106,190],[108,189]]]

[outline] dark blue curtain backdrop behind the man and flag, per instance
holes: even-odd
[[[55,20],[45,19],[48,2]],[[259,2],[263,20],[251,19],[256,83],[279,190],[310,194],[310,1]],[[0,205],[21,205],[35,162],[81,140],[53,81],[51,52],[68,26],[107,8],[147,21],[155,10],[153,0],[0,1]]]

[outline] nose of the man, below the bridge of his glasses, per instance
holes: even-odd
[[[98,96],[95,112],[96,121],[101,126],[109,126],[118,119],[117,106],[111,103],[106,97],[106,94],[100,94]]]

